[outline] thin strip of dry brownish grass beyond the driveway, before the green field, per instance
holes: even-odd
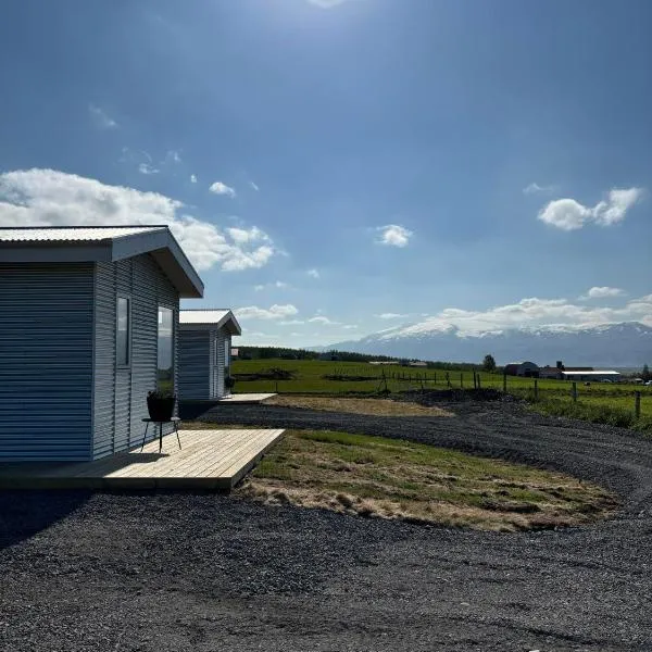
[[[426,408],[416,403],[389,399],[341,399],[338,397],[296,397],[277,394],[264,401],[265,405],[306,408],[323,412],[347,412],[372,416],[453,416],[440,408]]]

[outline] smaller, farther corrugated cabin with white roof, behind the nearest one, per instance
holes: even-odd
[[[221,399],[238,321],[230,310],[183,310],[179,323],[179,398]]]

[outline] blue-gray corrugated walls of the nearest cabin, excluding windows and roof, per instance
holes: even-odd
[[[126,368],[115,364],[118,294],[131,298]],[[178,341],[178,292],[149,254],[0,263],[0,459],[90,460],[140,443],[159,305],[175,311]]]

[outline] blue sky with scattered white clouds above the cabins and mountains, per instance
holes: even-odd
[[[243,343],[652,323],[648,0],[2,11],[0,224],[168,223]]]

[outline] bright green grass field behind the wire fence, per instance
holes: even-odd
[[[371,364],[326,362],[316,360],[247,360],[235,361],[234,374],[260,374],[269,369],[290,372],[291,379],[264,378],[258,380],[237,380],[235,392],[280,392],[280,393],[374,393],[385,388],[381,374],[387,377],[387,388],[394,392],[406,389],[446,389],[449,387],[473,387],[472,372],[442,372],[400,365],[376,366]],[[330,376],[331,378],[326,378]],[[339,377],[340,379],[333,379]],[[358,378],[347,380],[349,378]],[[499,374],[479,373],[484,388],[502,390],[503,377]],[[568,380],[539,380],[539,400],[541,403],[572,404],[572,383]],[[534,399],[531,378],[507,377],[507,391],[528,400]],[[652,387],[629,384],[592,383],[577,384],[578,403],[589,408],[607,408],[615,411],[634,413],[634,392],[641,392],[641,416],[652,419]]]

